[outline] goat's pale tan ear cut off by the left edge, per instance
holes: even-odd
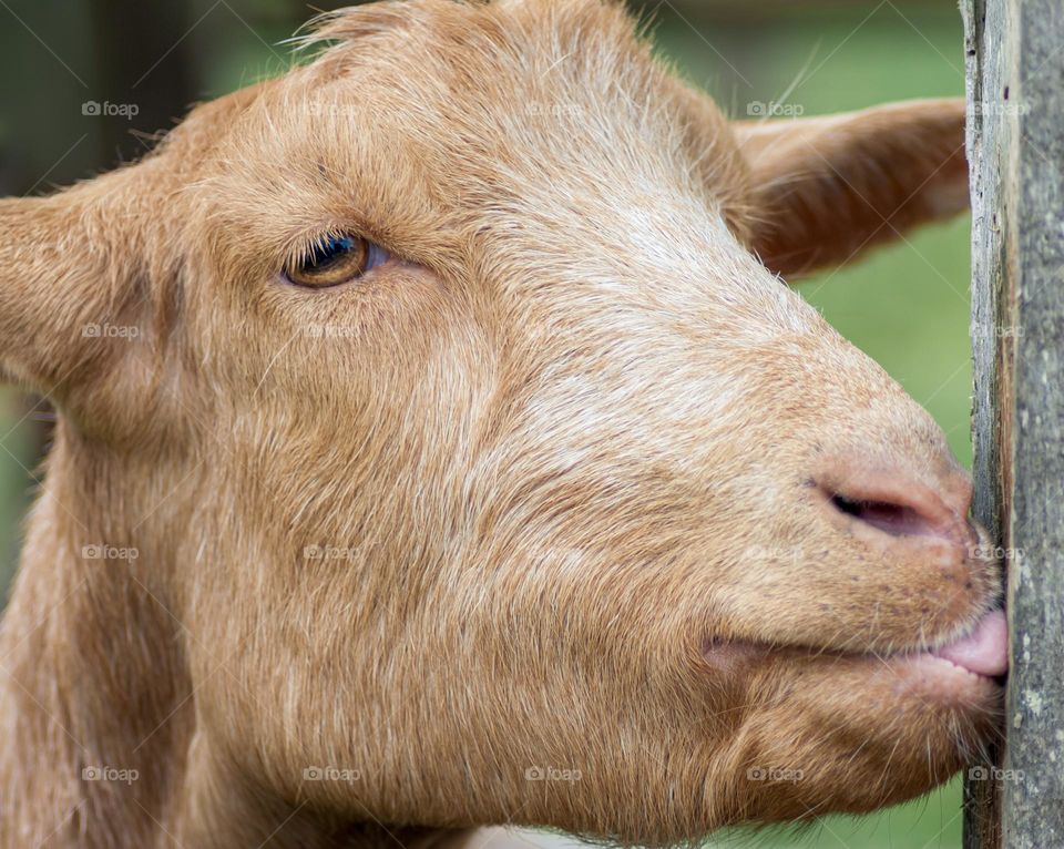
[[[0,200],[0,378],[62,398],[106,358],[129,279],[110,238],[123,212],[106,180]]]

